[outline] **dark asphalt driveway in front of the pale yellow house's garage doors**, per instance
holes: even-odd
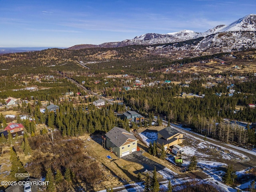
[[[142,155],[141,151],[133,152],[132,154],[122,157],[122,159],[131,161],[131,162],[136,162],[138,164],[141,164],[144,167],[141,170],[134,171],[135,174],[138,174],[139,172],[142,173],[145,170],[153,171],[155,167],[156,167],[156,171],[159,171],[165,168],[165,166],[162,166],[161,164],[146,158],[144,155]]]

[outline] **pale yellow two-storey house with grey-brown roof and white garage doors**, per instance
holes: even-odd
[[[137,151],[135,136],[123,128],[114,127],[105,136],[106,148],[114,152],[118,157],[123,157]]]

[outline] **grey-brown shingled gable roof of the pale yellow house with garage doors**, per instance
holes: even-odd
[[[136,141],[136,138],[132,133],[129,133],[128,131],[120,127],[112,128],[105,135],[110,139],[110,142],[112,142],[118,148],[126,142],[132,142],[131,140]]]

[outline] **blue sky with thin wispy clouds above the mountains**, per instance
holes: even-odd
[[[256,14],[255,0],[0,0],[0,47],[70,47],[145,33],[204,32]]]

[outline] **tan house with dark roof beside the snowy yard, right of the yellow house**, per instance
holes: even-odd
[[[183,134],[178,132],[178,130],[166,127],[160,131],[158,131],[158,139],[156,140],[156,144],[159,148],[164,145],[164,148],[172,148],[176,144],[180,144],[183,142]]]

